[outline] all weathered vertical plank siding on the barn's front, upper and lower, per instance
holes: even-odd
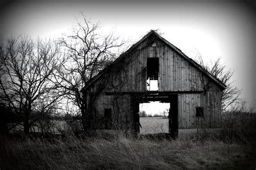
[[[147,58],[158,57],[158,91],[204,91],[201,94],[178,94],[179,128],[218,128],[221,89],[217,83],[164,42],[156,41],[155,45],[140,44],[117,67],[110,69],[87,89],[88,94],[100,92],[95,102],[96,113],[102,115],[105,108],[111,108],[122,115],[120,124],[127,122],[131,118],[127,118],[130,114],[130,96],[118,94],[117,104],[113,102],[114,95],[107,96],[104,93],[146,92]],[[99,91],[99,88],[102,89]],[[196,107],[204,108],[204,118],[196,117]]]

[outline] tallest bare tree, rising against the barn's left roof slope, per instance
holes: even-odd
[[[108,63],[116,58],[118,48],[124,44],[113,33],[103,35],[99,23],[92,23],[82,14],[82,21],[77,19],[77,25],[71,33],[59,39],[63,47],[65,64],[59,69],[58,86],[62,87],[67,96],[67,105],[75,104],[83,119],[84,130],[89,129],[86,118],[90,113],[86,107],[86,97],[81,89],[86,82],[94,77]],[[67,110],[66,112],[69,112]]]

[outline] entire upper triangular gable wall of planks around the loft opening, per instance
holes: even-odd
[[[147,69],[150,69],[146,68],[146,62],[147,58],[152,57],[159,58],[158,91],[202,91],[207,84],[215,84],[171,47],[157,41],[156,47],[140,45],[126,57],[125,61],[119,63],[119,66],[112,68],[111,72],[98,79],[91,86],[91,91],[96,92],[97,86],[103,85],[104,92],[146,91],[146,73]],[[219,88],[217,90],[220,91]]]

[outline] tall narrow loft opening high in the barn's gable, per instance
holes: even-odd
[[[147,58],[147,90],[158,90],[159,58]]]

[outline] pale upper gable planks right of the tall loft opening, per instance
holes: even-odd
[[[200,91],[206,76],[183,56],[164,43],[157,42],[159,91]]]

